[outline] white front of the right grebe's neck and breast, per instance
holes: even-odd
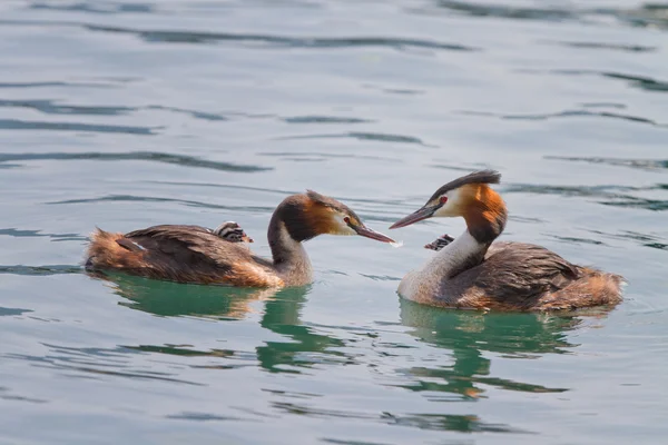
[[[399,294],[412,300],[425,300],[436,297],[441,283],[451,276],[471,257],[480,255],[487,246],[464,230],[454,241],[439,250],[420,270],[410,271],[399,285]]]

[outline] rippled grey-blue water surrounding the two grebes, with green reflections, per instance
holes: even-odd
[[[0,443],[650,444],[668,428],[668,3],[0,2]],[[276,295],[81,273],[99,225],[313,188],[385,229],[503,174],[505,239],[622,274],[577,317],[401,301],[458,220],[308,243]]]

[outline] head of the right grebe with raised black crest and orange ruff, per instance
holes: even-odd
[[[488,184],[499,184],[501,175],[482,170],[462,176],[438,189],[422,208],[394,222],[390,228],[410,226],[432,217],[464,217],[472,226],[497,224],[498,233],[505,226],[505,205]],[[475,235],[475,234],[473,234]],[[497,234],[498,235],[498,234]]]

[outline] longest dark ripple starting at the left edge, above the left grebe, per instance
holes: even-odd
[[[1,122],[1,121],[0,121]],[[46,154],[0,154],[0,165],[9,161],[33,160],[145,160],[151,162],[174,164],[180,167],[209,168],[223,171],[256,172],[272,170],[272,167],[247,166],[230,162],[220,162],[186,155],[171,155],[158,151],[130,151],[130,152],[46,152]]]

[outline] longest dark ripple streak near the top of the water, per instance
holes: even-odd
[[[84,24],[91,31],[135,34],[147,42],[160,43],[214,43],[214,42],[242,42],[261,43],[263,46],[288,48],[364,48],[381,47],[392,49],[424,48],[448,51],[475,51],[477,48],[458,43],[442,43],[432,40],[392,38],[392,37],[348,37],[348,38],[306,38],[283,37],[253,33],[223,33],[196,31],[159,31],[137,30],[130,28],[105,27],[99,24]]]

